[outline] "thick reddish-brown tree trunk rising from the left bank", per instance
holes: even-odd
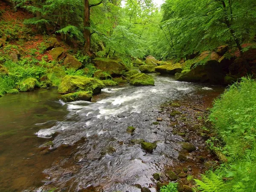
[[[90,5],[89,0],[84,0],[84,51],[90,50]]]

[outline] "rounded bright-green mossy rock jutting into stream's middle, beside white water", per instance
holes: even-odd
[[[144,73],[137,73],[130,77],[130,84],[142,86],[142,85],[153,85],[154,79],[151,76],[148,76]]]

